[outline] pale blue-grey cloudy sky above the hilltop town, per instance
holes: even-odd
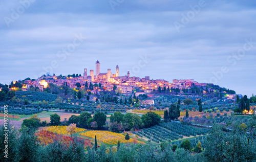
[[[256,2],[0,2],[0,83],[108,68],[256,94]]]

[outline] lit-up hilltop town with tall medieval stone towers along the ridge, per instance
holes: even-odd
[[[15,85],[14,81],[13,85]],[[150,79],[150,76],[139,78],[130,76],[130,72],[127,72],[126,76],[119,76],[119,66],[116,65],[115,74],[111,69],[108,69],[106,73],[102,73],[100,70],[100,62],[96,61],[96,73],[94,70],[84,68],[83,76],[78,74],[68,76],[55,76],[44,75],[36,80],[27,78],[22,82],[22,90],[29,90],[31,87],[38,87],[40,91],[44,91],[48,85],[52,83],[57,86],[66,85],[70,88],[88,88],[90,84],[99,85],[99,87],[89,89],[92,94],[99,94],[100,91],[113,91],[118,90],[121,94],[132,94],[135,92],[136,96],[143,94],[151,94],[153,91],[165,92],[168,95],[182,95],[182,94],[230,94],[228,97],[234,99],[235,92],[226,88],[221,88],[211,83],[198,83],[194,79],[174,79],[173,82],[169,82],[163,79]],[[15,88],[12,87],[12,88]]]

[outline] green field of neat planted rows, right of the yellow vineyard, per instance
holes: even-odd
[[[150,127],[141,131],[134,132],[140,137],[146,137],[156,143],[164,141],[174,141],[182,139],[183,136],[203,135],[209,132],[208,129],[197,128],[181,123],[168,122],[162,123],[159,126]]]

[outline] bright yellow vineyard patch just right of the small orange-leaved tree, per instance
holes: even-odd
[[[133,140],[131,138],[130,138],[130,140],[125,140],[124,135],[119,134],[119,133],[109,132],[109,131],[92,130],[92,131],[80,133],[79,135],[90,137],[90,138],[94,138],[95,135],[97,135],[98,141],[105,143],[105,144],[109,144],[109,145],[116,145],[118,143],[118,141],[120,141],[120,143],[127,143],[127,142],[132,143],[133,142]]]

